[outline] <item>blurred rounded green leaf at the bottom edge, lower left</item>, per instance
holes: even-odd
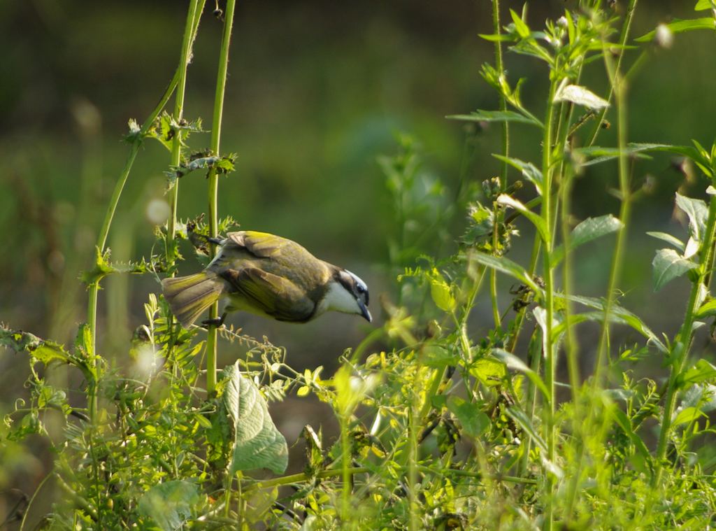
[[[193,508],[200,502],[199,487],[187,481],[170,481],[155,485],[140,497],[137,509],[163,531],[184,529]]]

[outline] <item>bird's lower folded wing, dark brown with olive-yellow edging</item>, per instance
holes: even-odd
[[[226,269],[220,276],[231,291],[276,320],[304,322],[314,315],[314,302],[289,279],[257,267]]]

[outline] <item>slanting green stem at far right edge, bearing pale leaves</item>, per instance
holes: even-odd
[[[716,179],[714,179],[716,182]],[[694,322],[696,320],[696,310],[702,300],[702,287],[704,287],[706,279],[709,277],[714,267],[714,251],[712,243],[716,236],[716,197],[711,196],[709,203],[709,216],[706,224],[704,239],[701,242],[700,249],[700,269],[698,279],[692,283],[689,302],[686,307],[686,315],[684,322],[679,330],[678,340],[674,343],[671,350],[671,371],[669,373],[669,383],[667,384],[666,398],[664,398],[664,412],[662,414],[661,429],[659,430],[659,442],[657,444],[656,469],[652,477],[652,484],[658,486],[661,482],[663,472],[663,461],[667,453],[667,445],[669,441],[669,431],[672,425],[672,416],[674,416],[674,406],[676,405],[676,396],[679,388],[679,376],[686,366],[691,348]]]

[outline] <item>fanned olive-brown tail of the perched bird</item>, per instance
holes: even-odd
[[[221,297],[223,280],[210,271],[162,281],[164,298],[181,325],[188,328],[204,310]]]

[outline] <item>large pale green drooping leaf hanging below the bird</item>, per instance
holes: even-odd
[[[228,473],[267,468],[283,474],[289,464],[289,448],[256,384],[241,375],[238,361],[223,370],[223,379],[221,403],[233,436]]]

